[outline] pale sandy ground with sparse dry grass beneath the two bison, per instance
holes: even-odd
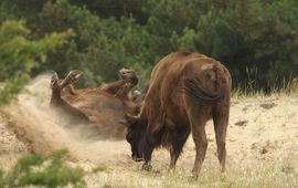
[[[89,137],[87,125],[70,127],[49,109],[49,75],[32,82],[18,101],[0,109],[0,168],[9,169],[30,150],[67,148],[70,160],[86,169],[107,170],[86,177],[87,187],[298,187],[298,96],[233,98],[227,134],[226,173],[220,173],[212,122],[200,179],[192,181],[194,145],[190,137],[168,173],[169,153],[155,150],[153,170],[130,159],[125,140]]]

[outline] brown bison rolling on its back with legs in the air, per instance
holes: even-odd
[[[66,116],[68,124],[88,123],[96,125],[100,135],[108,138],[125,138],[125,126],[118,123],[126,113],[136,114],[137,106],[130,96],[138,83],[132,70],[119,71],[120,80],[98,88],[75,90],[72,84],[81,76],[71,71],[62,81],[54,74],[51,80],[51,106]]]

